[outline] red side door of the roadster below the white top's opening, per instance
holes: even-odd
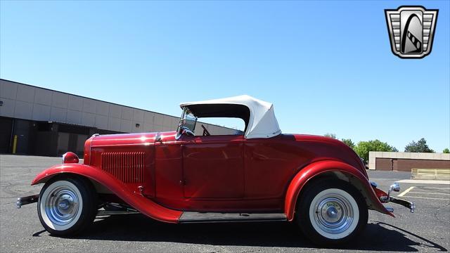
[[[243,136],[195,136],[182,145],[184,197],[243,198]]]

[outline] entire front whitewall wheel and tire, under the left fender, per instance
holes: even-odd
[[[39,194],[37,213],[52,235],[68,236],[91,225],[97,213],[94,186],[82,178],[60,178],[47,182]]]

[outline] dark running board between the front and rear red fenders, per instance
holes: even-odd
[[[183,212],[179,223],[287,221],[284,213]]]

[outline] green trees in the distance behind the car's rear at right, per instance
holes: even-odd
[[[325,136],[330,138],[335,138],[336,134],[325,134]],[[368,162],[368,153],[370,151],[383,151],[383,152],[398,152],[397,148],[392,145],[389,145],[383,141],[373,140],[373,141],[359,141],[358,143],[354,143],[350,138],[342,138],[341,141],[347,144],[356,154],[359,155],[364,162]],[[427,141],[425,138],[420,138],[420,140],[412,141],[405,147],[404,152],[413,152],[413,153],[435,153],[435,150],[432,150],[428,147]],[[442,150],[442,153],[450,153],[449,148],[445,148]]]

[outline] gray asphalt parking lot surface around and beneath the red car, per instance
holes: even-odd
[[[303,238],[295,224],[214,223],[175,225],[140,214],[96,219],[76,238],[49,235],[37,217],[36,204],[15,208],[17,197],[39,193],[34,176],[60,158],[0,155],[0,252],[446,252],[450,249],[450,185],[403,183],[403,195],[416,212],[398,205],[397,218],[371,211],[359,240],[341,249],[320,249]],[[409,173],[370,171],[387,189]],[[406,193],[405,191],[408,190]]]

